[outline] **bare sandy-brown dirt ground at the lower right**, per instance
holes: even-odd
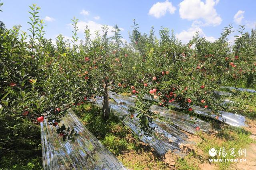
[[[252,135],[250,136],[252,139],[256,140],[256,121],[248,121],[249,125],[245,129],[250,131]],[[205,154],[196,144],[202,142],[202,139],[197,135],[191,135],[186,133],[189,137],[189,141],[191,144],[181,145],[183,153],[188,164],[188,167],[193,167],[193,169],[198,170],[219,170],[217,165],[212,164],[208,161],[208,155]],[[206,134],[205,134],[206,135]],[[207,134],[209,138],[214,137],[216,132]],[[130,140],[135,140],[133,137],[129,136]],[[215,142],[221,144],[225,141],[225,139],[217,139]],[[182,159],[180,156],[177,156],[173,152],[169,151],[164,156],[158,156],[155,152],[147,147],[144,143],[139,143],[139,145],[143,145],[141,150],[124,152],[118,156],[118,159],[122,161],[122,163],[128,168],[133,170],[180,170],[183,169],[184,166],[181,166],[182,163],[180,160]],[[230,170],[256,170],[256,144],[251,143],[246,148],[246,162],[238,162],[231,164]],[[191,156],[192,155],[192,156]],[[190,169],[190,168],[188,168]]]

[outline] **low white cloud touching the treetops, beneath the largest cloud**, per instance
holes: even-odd
[[[192,37],[198,31],[200,37],[204,37],[210,42],[214,42],[216,39],[212,36],[208,37],[205,35],[204,31],[200,27],[190,27],[187,31],[183,30],[180,33],[176,33],[176,37],[182,41],[182,43],[188,43]]]

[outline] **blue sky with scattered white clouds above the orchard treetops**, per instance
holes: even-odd
[[[92,31],[102,25],[118,24],[121,34],[128,40],[132,20],[139,23],[140,31],[146,32],[154,26],[156,35],[163,27],[174,29],[183,43],[199,31],[209,41],[218,39],[222,29],[232,23],[234,31],[246,25],[246,31],[255,27],[255,0],[2,0],[0,20],[7,28],[22,25],[27,31],[29,5],[37,4],[40,18],[45,20],[46,38],[55,39],[58,34],[71,37],[73,16],[79,19],[79,37],[84,39],[84,28]],[[111,28],[111,27],[110,27]],[[232,36],[235,33],[232,34]],[[237,33],[236,33],[237,34]],[[232,37],[230,37],[233,40]]]

